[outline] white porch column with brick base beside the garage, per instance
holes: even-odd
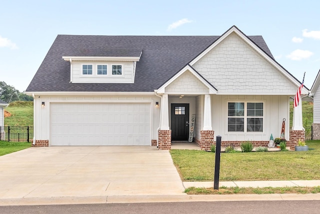
[[[169,107],[168,107],[168,94],[162,95],[161,100],[161,125],[158,130],[158,149],[170,150],[171,149],[171,130],[169,127]]]

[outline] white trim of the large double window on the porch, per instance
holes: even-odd
[[[243,116],[232,116],[232,117],[237,117],[237,118],[244,118],[244,129],[243,131],[229,131],[228,130],[228,103],[229,102],[243,102],[244,103],[244,115]],[[262,131],[247,131],[246,130],[246,127],[247,127],[247,103],[250,102],[250,103],[263,103],[263,116],[256,116],[255,118],[262,118]],[[250,101],[243,101],[243,100],[228,100],[226,102],[226,132],[227,133],[264,133],[264,125],[265,123],[265,102],[262,101],[262,100],[250,100]]]

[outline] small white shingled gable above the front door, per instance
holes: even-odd
[[[188,70],[165,87],[167,94],[205,94],[208,92],[208,87]]]

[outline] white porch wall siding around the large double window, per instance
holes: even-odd
[[[254,101],[264,103],[263,132],[228,132],[227,102]],[[212,129],[222,140],[269,140],[279,137],[285,118],[285,138],[289,138],[289,96],[286,95],[212,95]]]

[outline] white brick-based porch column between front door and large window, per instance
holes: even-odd
[[[203,109],[203,128],[200,130],[200,147],[201,150],[210,150],[213,144],[214,131],[211,124],[211,96],[204,95],[204,109]]]

